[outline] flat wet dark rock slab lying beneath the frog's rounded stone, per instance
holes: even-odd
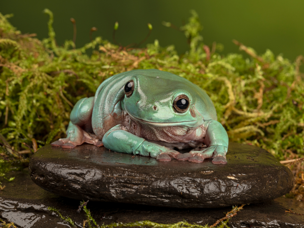
[[[76,227],[83,227],[84,212],[77,213],[79,200],[69,199],[45,191],[31,181],[26,170],[8,174],[16,177],[14,181],[2,181],[6,188],[0,192],[0,217],[14,222],[22,228],[68,228],[66,222],[48,207],[59,209],[63,216],[69,216]],[[186,219],[189,223],[209,225],[224,216],[231,207],[226,208],[165,208],[136,204],[88,202],[88,208],[99,225],[113,222],[129,223],[150,220],[157,223],[177,223]],[[280,197],[270,202],[250,204],[237,212],[229,222],[231,228],[298,228],[304,227],[304,217],[285,212],[291,209],[304,213],[304,203]],[[86,226],[88,227],[88,226]]]

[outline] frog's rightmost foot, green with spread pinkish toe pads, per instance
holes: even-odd
[[[203,148],[201,151],[192,150],[189,152],[193,157],[189,158],[190,162],[203,162],[206,158],[213,157],[213,164],[226,164],[227,147],[214,145]]]

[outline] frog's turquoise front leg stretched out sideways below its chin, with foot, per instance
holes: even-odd
[[[150,156],[157,161],[170,161],[171,157],[178,160],[185,160],[186,156],[179,155],[176,150],[171,150],[156,143],[150,143],[128,132],[122,124],[112,127],[102,138],[105,148],[127,154]],[[177,155],[178,158],[177,158]],[[181,157],[180,157],[181,156]],[[183,159],[184,158],[184,159]]]

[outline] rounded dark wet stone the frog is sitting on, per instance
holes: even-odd
[[[187,152],[187,151],[184,151]],[[291,171],[266,150],[230,143],[227,164],[156,161],[84,144],[41,148],[30,159],[34,183],[72,199],[179,208],[214,208],[278,198]]]

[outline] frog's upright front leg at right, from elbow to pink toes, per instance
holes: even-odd
[[[207,147],[201,150],[192,150],[189,153],[193,157],[189,158],[191,162],[203,162],[206,158],[213,157],[212,163],[226,164],[226,153],[228,150],[228,135],[221,123],[211,120],[207,123],[206,136],[204,143]]]

